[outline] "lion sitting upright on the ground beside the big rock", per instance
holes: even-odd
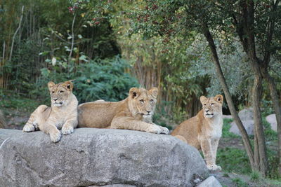
[[[200,97],[202,110],[188,120],[183,121],[171,135],[185,143],[202,150],[209,170],[221,170],[216,165],[216,151],[223,129],[223,96]]]

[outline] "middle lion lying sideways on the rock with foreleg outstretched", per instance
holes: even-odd
[[[120,102],[86,102],[78,106],[78,127],[126,129],[168,134],[166,127],[152,123],[157,88],[131,88]]]

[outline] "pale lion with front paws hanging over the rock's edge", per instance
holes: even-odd
[[[60,141],[60,131],[63,134],[71,134],[77,127],[77,106],[78,101],[72,93],[73,83],[66,81],[55,84],[48,83],[48,90],[51,95],[51,107],[40,105],[30,116],[23,127],[23,132],[41,130],[50,134],[51,141]]]

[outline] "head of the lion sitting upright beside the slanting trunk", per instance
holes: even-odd
[[[200,97],[200,102],[203,106],[204,117],[213,118],[218,113],[221,113],[223,106],[223,96],[216,95],[216,97]]]

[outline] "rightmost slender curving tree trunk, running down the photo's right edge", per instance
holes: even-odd
[[[268,87],[270,90],[270,96],[273,101],[273,108],[276,115],[277,120],[277,133],[278,133],[278,155],[279,155],[279,174],[281,175],[281,107],[280,107],[280,101],[278,98],[277,89],[275,86],[275,82],[273,81],[273,78],[271,78],[270,74],[268,73],[267,69],[263,69],[262,71],[263,77],[268,82]]]

